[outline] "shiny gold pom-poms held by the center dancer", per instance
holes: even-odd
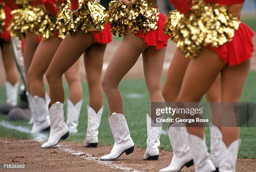
[[[126,27],[132,33],[141,30],[146,33],[157,29],[159,12],[156,8],[148,7],[146,0],[131,0],[130,7],[126,7],[118,0],[109,3],[108,22],[113,35],[124,36]]]

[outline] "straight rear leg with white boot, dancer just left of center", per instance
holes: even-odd
[[[84,52],[84,66],[89,87],[89,105],[87,105],[87,132],[83,145],[97,147],[98,128],[104,110],[102,106],[103,92],[101,87],[101,73],[103,57],[107,45],[93,44]]]

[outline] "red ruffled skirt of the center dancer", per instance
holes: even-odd
[[[167,40],[169,39],[163,32],[164,22],[166,17],[163,13],[159,13],[159,20],[157,21],[157,29],[152,30],[146,33],[143,33],[141,30],[134,33],[134,35],[144,39],[144,42],[148,46],[155,46],[156,50],[160,50],[167,46]]]

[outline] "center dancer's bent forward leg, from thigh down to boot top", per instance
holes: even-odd
[[[133,35],[130,29],[126,29],[125,37],[110,60],[102,79],[102,87],[107,96],[111,114],[114,112],[124,114],[123,100],[118,85],[145,49],[146,44],[143,39]]]

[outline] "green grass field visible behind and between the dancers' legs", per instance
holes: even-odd
[[[248,75],[248,79],[246,81],[246,85],[243,91],[242,101],[248,102],[255,102],[256,101],[256,72],[250,72]],[[87,129],[87,110],[86,105],[89,102],[88,99],[88,88],[86,83],[82,83],[83,87],[83,99],[84,105],[82,107],[82,112],[79,118],[79,133],[75,135],[70,135],[67,141],[72,142],[82,142],[84,141],[84,137],[86,135]],[[64,85],[66,95],[68,95],[68,85]],[[146,147],[146,113],[149,113],[149,98],[148,93],[145,85],[145,81],[143,79],[133,79],[133,80],[123,80],[120,84],[120,90],[123,95],[124,101],[124,109],[126,114],[126,120],[128,122],[131,137],[136,145],[136,147]],[[130,93],[137,93],[143,95],[140,98],[129,98],[127,97]],[[0,87],[0,94],[5,94],[5,88]],[[0,97],[0,102],[4,102],[5,96]],[[204,98],[205,100],[205,98]],[[203,100],[203,101],[204,101]],[[114,140],[113,136],[108,124],[108,104],[106,98],[104,97],[104,105],[105,110],[102,115],[101,125],[99,128],[99,140],[101,145],[113,145]],[[66,110],[66,102],[65,102],[65,110]],[[0,116],[1,120],[7,120],[6,116]],[[26,127],[31,127],[27,124],[27,121],[18,121],[18,122],[11,122],[14,125],[23,125]],[[164,127],[166,130],[166,127]],[[206,140],[207,145],[210,145],[210,135],[209,129],[206,128]],[[20,132],[16,132],[13,130],[6,130],[3,127],[0,127],[0,137],[11,137],[11,138],[18,138],[18,139],[26,139],[29,138],[29,135],[23,134]],[[239,157],[241,158],[253,158],[256,159],[256,127],[241,127],[241,147],[239,152]],[[171,146],[169,143],[169,138],[167,135],[161,135],[161,150],[171,150]]]

